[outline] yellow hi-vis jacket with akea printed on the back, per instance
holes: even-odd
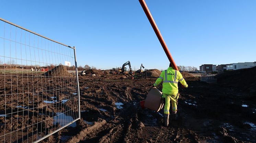
[[[185,87],[188,87],[186,81],[182,77],[182,74],[169,67],[167,70],[162,71],[161,75],[155,81],[154,86],[158,86],[163,81],[162,92],[164,94],[177,95],[178,94],[178,82]]]

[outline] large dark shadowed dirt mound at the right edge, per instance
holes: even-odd
[[[256,93],[256,67],[217,74],[218,83]]]

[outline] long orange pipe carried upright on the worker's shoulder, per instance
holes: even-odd
[[[157,27],[157,25],[156,25],[154,19],[153,19],[152,15],[151,15],[151,13],[150,13],[150,11],[149,11],[149,8],[148,8],[146,2],[145,2],[144,0],[139,0],[139,2],[140,2],[140,4],[141,4],[141,6],[142,6],[142,8],[143,8],[143,10],[144,10],[144,12],[145,12],[145,14],[147,15],[147,17],[148,17],[148,19],[149,19],[149,22],[150,22],[152,28],[154,29],[155,34],[156,34],[156,36],[157,36],[159,42],[161,43],[161,45],[162,45],[162,47],[163,47],[163,49],[164,49],[164,52],[165,52],[166,56],[168,57],[168,59],[169,59],[171,65],[172,65],[172,67],[173,67],[175,70],[178,70],[178,68],[177,68],[177,66],[176,66],[176,64],[175,64],[175,62],[174,62],[174,60],[173,60],[173,58],[172,58],[172,55],[171,55],[171,53],[169,52],[168,47],[167,47],[167,45],[165,44],[164,39],[163,39],[163,37],[162,37],[162,35],[161,35],[161,33],[160,33],[160,31],[159,31],[159,29],[158,29],[158,27]]]

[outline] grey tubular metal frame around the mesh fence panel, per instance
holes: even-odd
[[[45,38],[45,39],[47,39],[47,40],[53,41],[53,42],[55,42],[55,43],[61,44],[61,45],[63,45],[63,46],[69,47],[69,48],[72,48],[72,49],[74,50],[75,74],[76,74],[76,79],[77,79],[77,91],[78,91],[78,118],[77,118],[77,119],[74,119],[73,121],[71,121],[71,122],[68,123],[67,125],[62,126],[62,127],[60,127],[59,129],[57,129],[57,130],[55,130],[55,131],[53,131],[53,132],[51,132],[51,133],[45,135],[44,137],[42,137],[42,138],[40,138],[40,139],[34,141],[34,143],[37,143],[37,142],[40,142],[40,141],[42,141],[42,140],[48,138],[50,135],[53,135],[54,133],[56,133],[56,132],[62,130],[63,128],[69,126],[70,124],[72,124],[72,123],[74,123],[75,121],[79,120],[80,117],[81,117],[81,116],[80,116],[80,90],[79,90],[78,69],[77,69],[77,58],[76,58],[76,53],[75,53],[75,46],[71,47],[71,46],[69,46],[69,45],[66,45],[66,44],[60,43],[60,42],[58,42],[58,41],[52,40],[52,39],[47,38],[47,37],[45,37],[45,36],[43,36],[43,35],[40,35],[40,34],[38,34],[38,33],[36,33],[36,32],[33,32],[33,31],[28,30],[28,29],[26,29],[26,28],[23,28],[23,27],[21,27],[21,26],[19,26],[19,25],[16,25],[16,24],[14,24],[14,23],[12,23],[12,22],[9,22],[8,20],[5,20],[5,19],[3,19],[3,18],[1,18],[1,17],[0,17],[0,20],[3,21],[3,22],[5,22],[5,23],[8,23],[8,24],[10,24],[10,25],[13,25],[13,26],[16,26],[16,27],[18,27],[18,28],[21,28],[21,29],[23,29],[23,30],[25,30],[25,31],[31,32],[31,33],[33,33],[33,34],[35,34],[35,35],[38,35],[38,36],[40,36],[40,37],[42,37],[42,38]]]

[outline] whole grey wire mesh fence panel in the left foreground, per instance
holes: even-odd
[[[0,18],[0,142],[39,142],[80,118],[75,47]]]

